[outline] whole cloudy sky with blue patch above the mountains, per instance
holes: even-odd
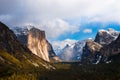
[[[0,21],[45,30],[53,44],[73,43],[99,29],[120,31],[120,0],[0,0]]]

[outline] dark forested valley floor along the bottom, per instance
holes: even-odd
[[[0,80],[120,80],[120,63],[53,64],[56,70],[19,70],[0,74]]]

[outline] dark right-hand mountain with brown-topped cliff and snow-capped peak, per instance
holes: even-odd
[[[118,35],[119,32],[113,29],[99,30],[94,41],[86,42],[83,48],[82,63],[108,63],[110,55],[115,54],[114,50],[119,50],[119,42],[116,42]]]

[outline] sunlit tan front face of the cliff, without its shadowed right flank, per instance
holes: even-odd
[[[48,42],[46,41],[45,32],[32,28],[28,33],[28,48],[35,55],[46,61],[49,60]]]

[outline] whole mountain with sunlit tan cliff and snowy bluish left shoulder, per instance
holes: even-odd
[[[39,30],[33,26],[28,28],[13,28],[21,43],[40,58],[45,61],[60,61],[55,54],[52,45],[47,41],[45,31]]]

